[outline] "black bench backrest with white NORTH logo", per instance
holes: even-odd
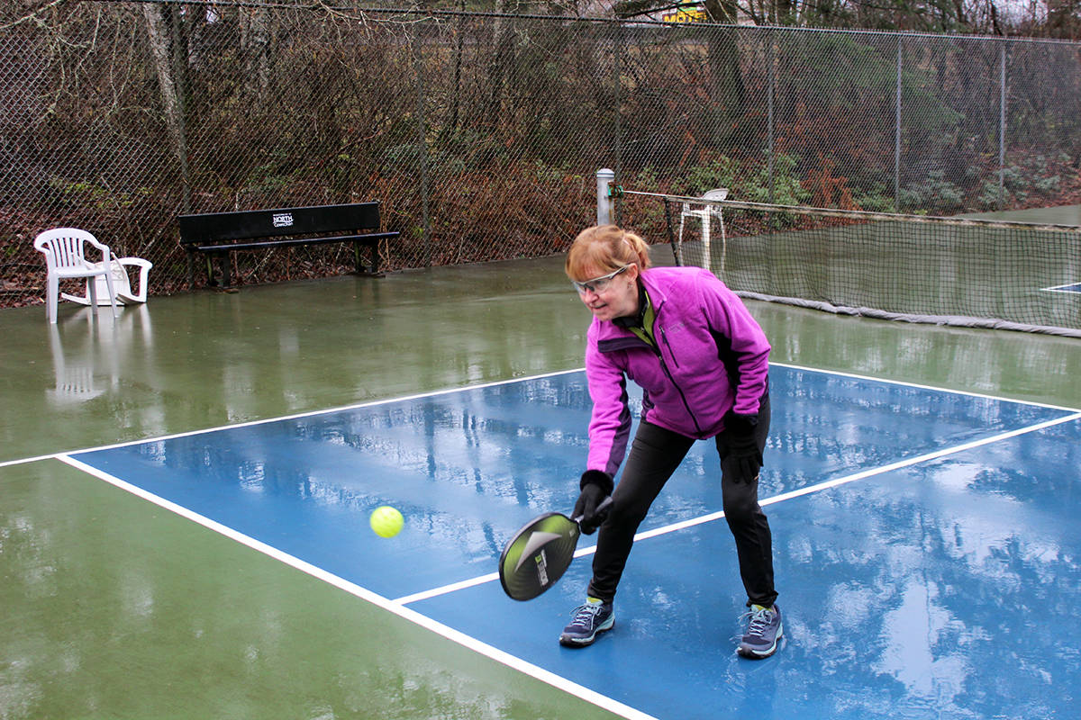
[[[379,203],[206,213],[181,215],[176,219],[181,227],[181,242],[184,244],[345,230],[377,230]]]

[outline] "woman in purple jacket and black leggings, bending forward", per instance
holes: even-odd
[[[560,643],[585,647],[612,628],[616,586],[639,525],[695,440],[712,438],[750,609],[737,652],[769,657],[783,627],[770,526],[758,502],[770,430],[770,343],[762,328],[709,271],[650,268],[645,242],[616,226],[583,231],[566,274],[593,314],[586,343],[589,454],[574,515],[583,516],[584,532],[599,527],[600,533],[586,601]],[[628,379],[643,390],[629,453]],[[598,513],[609,494],[614,502]]]

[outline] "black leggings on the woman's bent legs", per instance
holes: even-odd
[[[770,432],[770,396],[762,398],[755,435],[759,448],[765,448]],[[777,598],[773,587],[773,541],[770,524],[758,504],[758,478],[750,483],[733,479],[729,462],[728,433],[717,436],[721,459],[721,491],[724,519],[736,541],[739,575],[748,602],[770,607]],[[593,579],[589,596],[611,602],[627,565],[635,533],[645,519],[650,505],[683,462],[694,439],[641,422],[630,446],[623,476],[612,493],[612,510],[597,536]]]

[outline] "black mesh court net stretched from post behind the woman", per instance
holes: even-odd
[[[1081,337],[1078,226],[614,194],[632,229],[663,203],[675,262],[747,299]]]

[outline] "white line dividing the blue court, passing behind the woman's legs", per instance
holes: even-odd
[[[962,443],[961,445],[955,445],[949,448],[943,448],[940,450],[934,450],[932,452],[925,452],[921,456],[916,456],[915,458],[908,458],[906,460],[898,460],[897,462],[892,462],[886,465],[880,465],[878,467],[871,467],[868,470],[859,471],[858,473],[853,473],[851,475],[844,475],[842,477],[836,477],[832,480],[826,480],[825,483],[818,483],[817,485],[811,485],[805,488],[800,488],[799,490],[791,490],[789,492],[783,492],[779,495],[773,495],[772,498],[766,498],[759,502],[760,505],[773,505],[775,503],[784,502],[786,500],[791,500],[793,498],[800,498],[802,495],[809,495],[813,492],[822,492],[823,490],[829,490],[830,488],[836,488],[841,485],[846,485],[849,483],[854,483],[856,480],[863,480],[868,477],[875,477],[876,475],[882,475],[883,473],[891,473],[895,470],[900,470],[903,467],[911,467],[912,465],[919,465],[920,463],[929,462],[931,460],[937,460],[938,458],[945,458],[947,456],[957,454],[959,452],[964,452],[965,450],[972,450],[973,448],[978,448],[985,445],[991,445],[992,443],[1000,443],[1002,440],[1010,439],[1011,437],[1017,437],[1018,435],[1025,435],[1028,433],[1035,433],[1040,430],[1045,430],[1054,425],[1059,425],[1065,422],[1072,422],[1075,420],[1081,420],[1081,412],[1076,412],[1064,418],[1056,418],[1055,420],[1046,420],[1044,422],[1037,423],[1035,425],[1028,425],[1027,427],[1020,427],[1017,430],[1011,430],[1004,433],[999,433],[998,435],[991,435],[989,437],[984,437],[978,440],[971,440],[969,443]],[[699,517],[694,517],[689,520],[681,520],[679,522],[672,522],[671,525],[666,525],[660,528],[654,528],[653,530],[646,530],[644,532],[639,532],[635,535],[635,542],[642,540],[648,540],[650,538],[657,538],[659,535],[667,535],[669,533],[676,532],[677,530],[685,530],[686,528],[693,528],[697,525],[705,525],[706,522],[713,522],[724,517],[724,512],[710,513],[708,515],[702,515]],[[592,555],[597,552],[597,546],[591,545],[589,547],[579,547],[574,552],[574,557],[584,557],[586,555]],[[465,589],[467,587],[472,587],[475,585],[483,585],[484,583],[490,583],[494,580],[498,580],[498,573],[490,573],[488,575],[480,575],[479,578],[473,578],[471,580],[463,580],[458,583],[453,583],[451,585],[444,585],[442,587],[436,587],[430,590],[424,590],[422,593],[414,593],[413,595],[406,595],[400,597],[395,602],[406,604],[410,602],[417,602],[419,600],[427,600],[429,598],[438,597],[440,595],[446,595],[449,593],[454,593],[456,590]]]

